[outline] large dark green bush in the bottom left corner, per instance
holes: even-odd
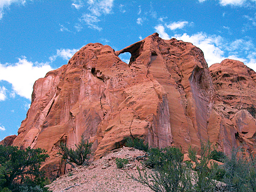
[[[44,188],[41,162],[49,157],[44,149],[18,149],[17,146],[0,145],[0,191],[20,191],[21,186],[39,185]]]

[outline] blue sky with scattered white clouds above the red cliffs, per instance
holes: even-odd
[[[255,29],[256,0],[0,0],[0,140],[17,134],[34,81],[88,43],[120,50],[158,32],[200,47],[209,66],[256,71]]]

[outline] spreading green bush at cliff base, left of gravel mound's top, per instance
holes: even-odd
[[[75,149],[69,149],[65,143],[60,143],[60,154],[62,160],[68,164],[88,165],[89,154],[91,154],[92,143],[82,137]]]

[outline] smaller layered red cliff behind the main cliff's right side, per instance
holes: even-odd
[[[243,143],[248,152],[254,151],[256,73],[244,63],[230,59],[210,66],[210,72],[216,89],[212,113],[217,121],[209,126],[209,131],[218,133],[211,141],[219,140],[225,152]],[[225,138],[231,142],[226,143]]]

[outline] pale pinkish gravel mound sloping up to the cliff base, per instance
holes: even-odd
[[[47,187],[53,192],[61,191],[152,191],[129,175],[137,177],[136,167],[142,169],[142,165],[136,157],[145,155],[145,152],[134,148],[116,149],[103,158],[94,161],[88,167],[76,167],[68,174],[57,178]],[[125,158],[129,164],[124,168],[117,168],[116,158]]]

